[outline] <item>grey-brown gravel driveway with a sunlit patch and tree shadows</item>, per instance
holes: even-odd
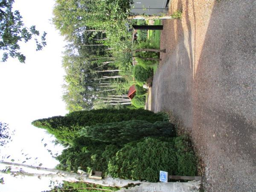
[[[172,0],[151,110],[172,111],[204,160],[206,191],[256,191],[256,1]]]

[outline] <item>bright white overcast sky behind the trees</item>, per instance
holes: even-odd
[[[41,33],[47,32],[47,47],[36,52],[35,42],[31,40],[21,46],[21,52],[26,55],[25,64],[12,58],[0,63],[0,121],[16,130],[12,143],[0,148],[0,160],[7,161],[5,157],[11,155],[8,160],[14,159],[15,163],[22,163],[30,157],[26,160],[29,165],[43,163],[42,167],[52,168],[57,163],[47,151],[50,149],[55,153],[60,150],[51,145],[50,141],[54,138],[31,125],[35,119],[67,113],[61,99],[64,38],[50,22],[53,5],[54,0],[15,0],[13,10],[20,11],[25,25],[35,25]],[[48,145],[44,147],[44,143]],[[6,175],[0,177],[4,177],[6,183],[0,185],[0,192],[37,192],[46,190],[49,185],[38,179],[27,183],[25,179],[8,179]],[[46,187],[42,188],[40,184]]]

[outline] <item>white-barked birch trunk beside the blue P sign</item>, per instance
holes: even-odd
[[[118,105],[118,104],[114,104]],[[122,104],[124,105],[124,103]],[[51,178],[52,180],[59,180],[59,181],[70,181],[70,182],[87,182],[87,183],[95,183],[102,186],[118,186],[118,187],[124,187],[127,186],[130,183],[140,183],[140,186],[135,186],[131,189],[121,189],[119,192],[153,192],[153,191],[161,191],[161,192],[174,192],[174,191],[183,191],[183,192],[195,192],[198,191],[200,187],[200,181],[192,181],[187,183],[180,183],[180,182],[169,182],[169,183],[149,183],[149,182],[142,182],[142,181],[135,181],[135,180],[124,180],[119,178],[112,178],[110,176],[107,176],[106,178],[102,180],[97,179],[91,179],[89,178],[88,174],[76,174],[72,172],[65,172],[58,169],[49,169],[49,168],[43,168],[43,167],[35,167],[35,166],[28,166],[20,163],[9,163],[9,162],[3,162],[0,161],[0,164],[6,165],[6,166],[12,166],[14,168],[19,168],[19,171],[11,171],[13,175],[21,175],[21,176],[29,176],[29,177],[38,177],[38,179],[41,179],[43,177]],[[22,169],[20,169],[22,168]],[[49,172],[47,174],[43,173],[30,173],[23,171],[23,169],[29,168],[34,170],[35,172],[38,171],[44,171]],[[4,171],[1,171],[2,173],[6,173]]]

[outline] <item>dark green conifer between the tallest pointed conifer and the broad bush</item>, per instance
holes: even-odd
[[[175,131],[174,125],[169,122],[151,123],[143,120],[130,120],[87,126],[81,131],[81,135],[92,140],[122,146],[143,137],[174,137]]]

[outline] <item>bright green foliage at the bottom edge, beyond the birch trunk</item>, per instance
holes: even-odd
[[[100,190],[102,189],[102,190]],[[119,187],[110,187],[110,186],[102,186],[94,183],[85,183],[85,182],[68,182],[64,181],[62,186],[55,186],[53,189],[44,192],[61,192],[61,191],[68,191],[68,192],[99,192],[99,191],[117,191]]]

